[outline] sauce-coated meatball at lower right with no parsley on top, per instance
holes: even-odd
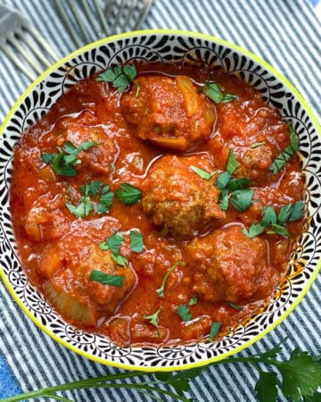
[[[210,302],[235,304],[264,299],[276,285],[263,239],[243,235],[241,226],[213,231],[188,246],[193,259],[193,291]]]

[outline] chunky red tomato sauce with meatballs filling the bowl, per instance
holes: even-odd
[[[119,345],[205,339],[211,322],[221,322],[223,333],[251,315],[284,275],[302,222],[288,223],[288,237],[266,230],[250,239],[242,229],[260,221],[262,206],[277,213],[302,199],[299,158],[276,175],[268,170],[289,144],[287,124],[235,76],[163,64],[137,70],[138,95],[133,84],[121,94],[95,77],[82,80],[23,134],[11,186],[19,254],[29,280],[80,328]],[[202,94],[206,80],[237,99],[214,105]],[[42,160],[67,141],[99,144],[78,153],[72,177],[57,175]],[[227,211],[218,207],[216,180],[230,150],[239,164],[235,178],[248,178],[254,191],[244,212],[231,203]],[[202,179],[191,166],[214,174]],[[114,197],[108,213],[78,218],[66,204],[78,205],[84,196],[79,188],[95,180],[112,192],[129,183],[142,199],[123,205]],[[130,230],[143,235],[143,252],[131,251]],[[125,267],[99,247],[115,232],[124,239],[119,255],[128,259]],[[160,297],[157,289],[178,261],[184,264],[169,274]],[[93,270],[124,282],[91,281]],[[177,314],[182,305],[191,314],[186,322]],[[158,328],[144,318],[157,311]]]

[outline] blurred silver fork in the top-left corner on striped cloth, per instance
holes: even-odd
[[[49,67],[60,58],[27,18],[1,4],[0,50],[30,80],[44,71],[44,65]]]

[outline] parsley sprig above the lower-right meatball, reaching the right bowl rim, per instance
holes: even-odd
[[[260,222],[251,223],[249,230],[243,228],[242,232],[248,238],[255,238],[268,229],[268,234],[278,234],[287,237],[289,235],[286,229],[287,222],[299,221],[303,215],[304,204],[301,200],[280,206],[278,214],[276,214],[273,206],[263,206]]]

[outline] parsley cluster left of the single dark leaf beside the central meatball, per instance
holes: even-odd
[[[66,206],[70,213],[78,218],[88,216],[91,211],[95,210],[96,214],[108,213],[112,204],[113,193],[110,191],[110,186],[103,185],[102,181],[92,181],[81,186],[80,191],[83,193],[78,205],[67,203]],[[91,197],[97,197],[95,202]]]

